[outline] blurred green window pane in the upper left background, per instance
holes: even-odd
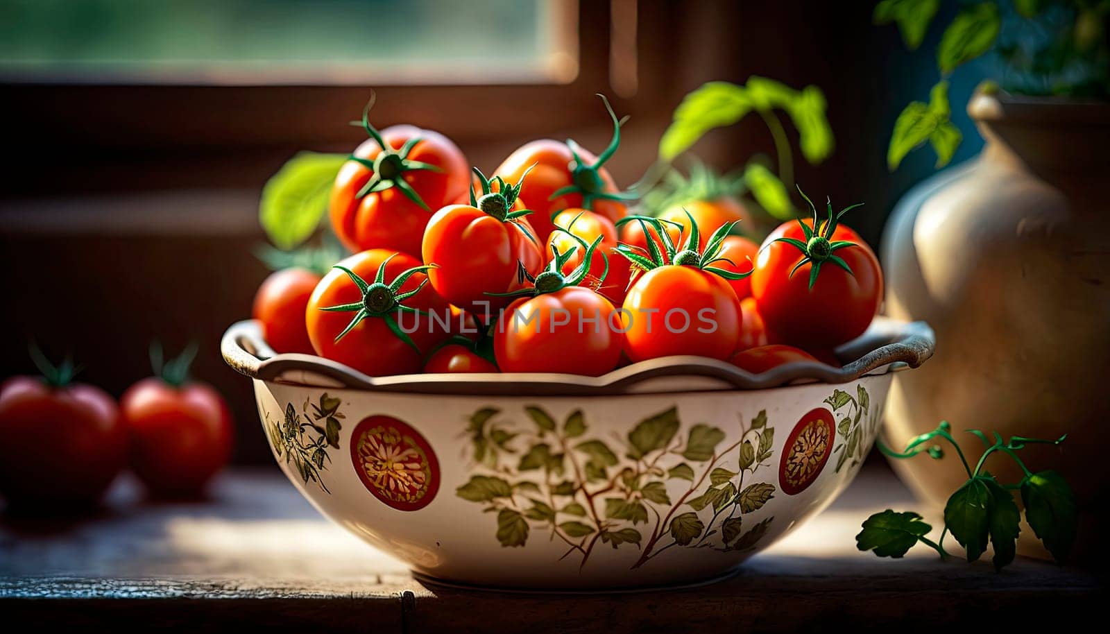
[[[0,79],[568,82],[573,0],[0,0]]]

